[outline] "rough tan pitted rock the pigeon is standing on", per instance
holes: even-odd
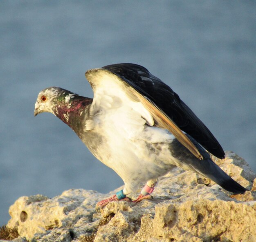
[[[226,152],[224,160],[212,158],[254,191],[232,195],[175,168],[159,179],[153,200],[111,202],[101,213],[96,203],[121,187],[110,194],[71,189],[54,198],[21,197],[9,209],[7,228],[18,231],[16,242],[256,241],[256,174],[233,152]]]

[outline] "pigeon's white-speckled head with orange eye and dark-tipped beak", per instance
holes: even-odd
[[[69,92],[58,87],[49,87],[40,91],[35,103],[34,116],[41,112],[51,112],[56,115],[56,105],[59,99],[65,99],[65,93]]]

